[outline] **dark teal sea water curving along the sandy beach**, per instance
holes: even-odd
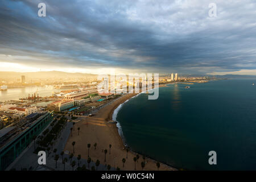
[[[256,80],[171,84],[131,98],[117,114],[132,150],[184,169],[256,169]],[[185,86],[191,86],[186,89]],[[210,166],[208,152],[217,152]]]

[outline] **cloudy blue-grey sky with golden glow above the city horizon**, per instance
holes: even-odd
[[[1,0],[0,71],[256,75],[255,20],[254,0]]]

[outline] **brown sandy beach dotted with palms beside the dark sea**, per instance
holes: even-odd
[[[115,123],[108,123],[112,119],[114,109],[120,104],[135,96],[136,94],[126,94],[118,100],[115,100],[111,104],[105,106],[99,110],[93,117],[80,117],[80,122],[75,124],[75,131],[73,136],[69,136],[68,142],[65,145],[64,150],[73,152],[72,142],[75,141],[75,156],[81,155],[82,158],[88,158],[87,144],[90,143],[89,156],[94,162],[100,160],[101,164],[110,164],[112,167],[119,167],[121,170],[134,170],[134,156],[137,155],[134,152],[129,151],[126,158],[125,146],[123,146],[122,138],[118,134],[118,129]],[[78,135],[77,128],[80,127]],[[96,149],[93,144],[97,143]],[[109,151],[109,144],[112,145]],[[106,154],[106,162],[104,162],[105,154],[104,150],[108,150]],[[122,159],[125,158],[125,167],[123,167]],[[143,162],[142,155],[140,155],[138,162],[136,162],[136,169],[142,170],[141,162]],[[157,170],[156,161],[146,158],[146,165],[144,170]],[[176,170],[170,166],[160,163],[159,170]]]

